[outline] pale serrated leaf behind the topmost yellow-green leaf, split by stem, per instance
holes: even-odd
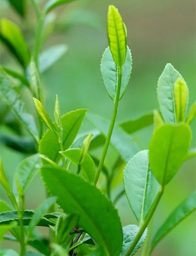
[[[127,84],[129,82],[132,69],[132,57],[131,51],[127,46],[126,58],[122,67],[122,81],[120,99],[123,97]],[[115,64],[110,48],[107,47],[104,51],[101,60],[101,73],[104,86],[110,98],[114,101],[116,97],[117,83],[118,83],[118,67]]]

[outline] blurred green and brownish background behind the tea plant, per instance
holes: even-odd
[[[44,1],[39,2],[40,5],[44,3]],[[32,47],[36,16],[30,1],[27,1],[27,4],[28,13],[23,23],[7,0],[1,0],[0,12],[1,17],[9,18],[20,26],[29,47]],[[107,47],[106,14],[109,4],[114,4],[123,17],[128,31],[127,45],[133,57],[132,74],[120,102],[117,121],[137,117],[158,107],[157,80],[168,62],[172,63],[187,82],[189,105],[191,105],[196,95],[194,0],[78,0],[54,9],[57,14],[57,24],[61,23],[62,26],[56,26],[55,32],[43,46],[43,49],[57,43],[66,43],[68,46],[67,53],[41,76],[46,91],[45,106],[51,116],[57,93],[62,114],[77,108],[88,108],[91,113],[110,118],[113,104],[104,88],[100,72],[100,60]],[[3,45],[1,45],[1,64],[20,71],[15,59]],[[26,101],[30,99],[25,91],[24,98]],[[33,101],[29,110],[35,111]],[[191,146],[195,147],[195,122],[192,122],[191,127],[193,130]],[[93,127],[85,120],[82,130],[89,131],[90,128]],[[1,126],[2,130],[4,133],[9,132]],[[139,132],[139,135],[135,134],[141,149],[148,148],[151,132],[152,127],[148,127]],[[12,180],[15,167],[25,156],[4,146],[1,146],[0,150],[8,178]],[[106,162],[111,161],[112,154],[113,150],[110,148]],[[172,209],[194,190],[195,167],[195,158],[185,162],[169,183],[155,213],[155,225],[162,223]],[[36,189],[33,189],[34,187]],[[119,187],[116,191],[118,189]],[[44,187],[37,176],[28,188],[26,207],[36,208],[44,197]],[[1,189],[1,198],[8,202],[3,189]],[[118,202],[117,208],[123,226],[136,223],[125,196]],[[153,255],[196,255],[195,241],[194,213],[161,241]],[[8,242],[4,242],[2,247],[4,246],[8,248]],[[141,250],[137,255],[140,253]]]

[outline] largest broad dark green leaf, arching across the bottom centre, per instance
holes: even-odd
[[[67,214],[78,214],[78,225],[103,246],[108,255],[119,256],[122,246],[120,220],[117,210],[101,191],[62,168],[42,167],[41,175],[49,192],[57,196],[58,205]]]

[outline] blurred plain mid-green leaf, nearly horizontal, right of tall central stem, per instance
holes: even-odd
[[[130,119],[119,124],[124,131],[131,134],[153,124],[153,113],[143,114],[137,119]]]

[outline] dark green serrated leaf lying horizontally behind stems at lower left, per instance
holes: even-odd
[[[33,211],[25,210],[23,212],[23,223],[24,226],[28,226],[29,222],[32,219],[32,216],[34,215]],[[17,221],[18,222],[18,211],[11,210],[6,212],[0,213],[0,224],[9,224],[11,221]],[[19,222],[18,222],[19,225]],[[37,226],[54,226],[55,223],[50,221],[49,219],[42,217],[39,222],[37,223]]]

